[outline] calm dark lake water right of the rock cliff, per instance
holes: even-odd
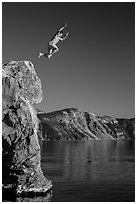
[[[135,201],[134,141],[44,141],[53,202]]]

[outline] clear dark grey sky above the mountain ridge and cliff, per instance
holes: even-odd
[[[67,23],[59,51],[48,42]],[[29,60],[41,79],[44,112],[64,108],[135,116],[133,2],[2,3],[2,62]]]

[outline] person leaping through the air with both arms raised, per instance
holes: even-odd
[[[64,26],[62,28],[60,28],[57,33],[54,35],[54,37],[49,41],[48,43],[48,54],[44,54],[44,53],[39,53],[38,54],[38,57],[42,57],[42,56],[45,56],[45,57],[48,57],[50,59],[50,57],[57,51],[59,51],[59,48],[57,47],[57,43],[59,41],[63,41],[66,39],[66,37],[68,36],[68,33],[62,37],[63,35],[63,32],[62,30],[66,27],[66,23],[64,24]]]

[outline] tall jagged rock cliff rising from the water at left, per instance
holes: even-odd
[[[52,187],[41,170],[38,119],[33,104],[42,100],[33,64],[3,65],[2,167],[3,187],[16,194],[43,193]]]

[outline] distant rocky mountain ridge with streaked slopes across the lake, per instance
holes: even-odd
[[[135,118],[113,118],[67,108],[38,113],[40,133],[48,140],[117,140],[135,138]]]

